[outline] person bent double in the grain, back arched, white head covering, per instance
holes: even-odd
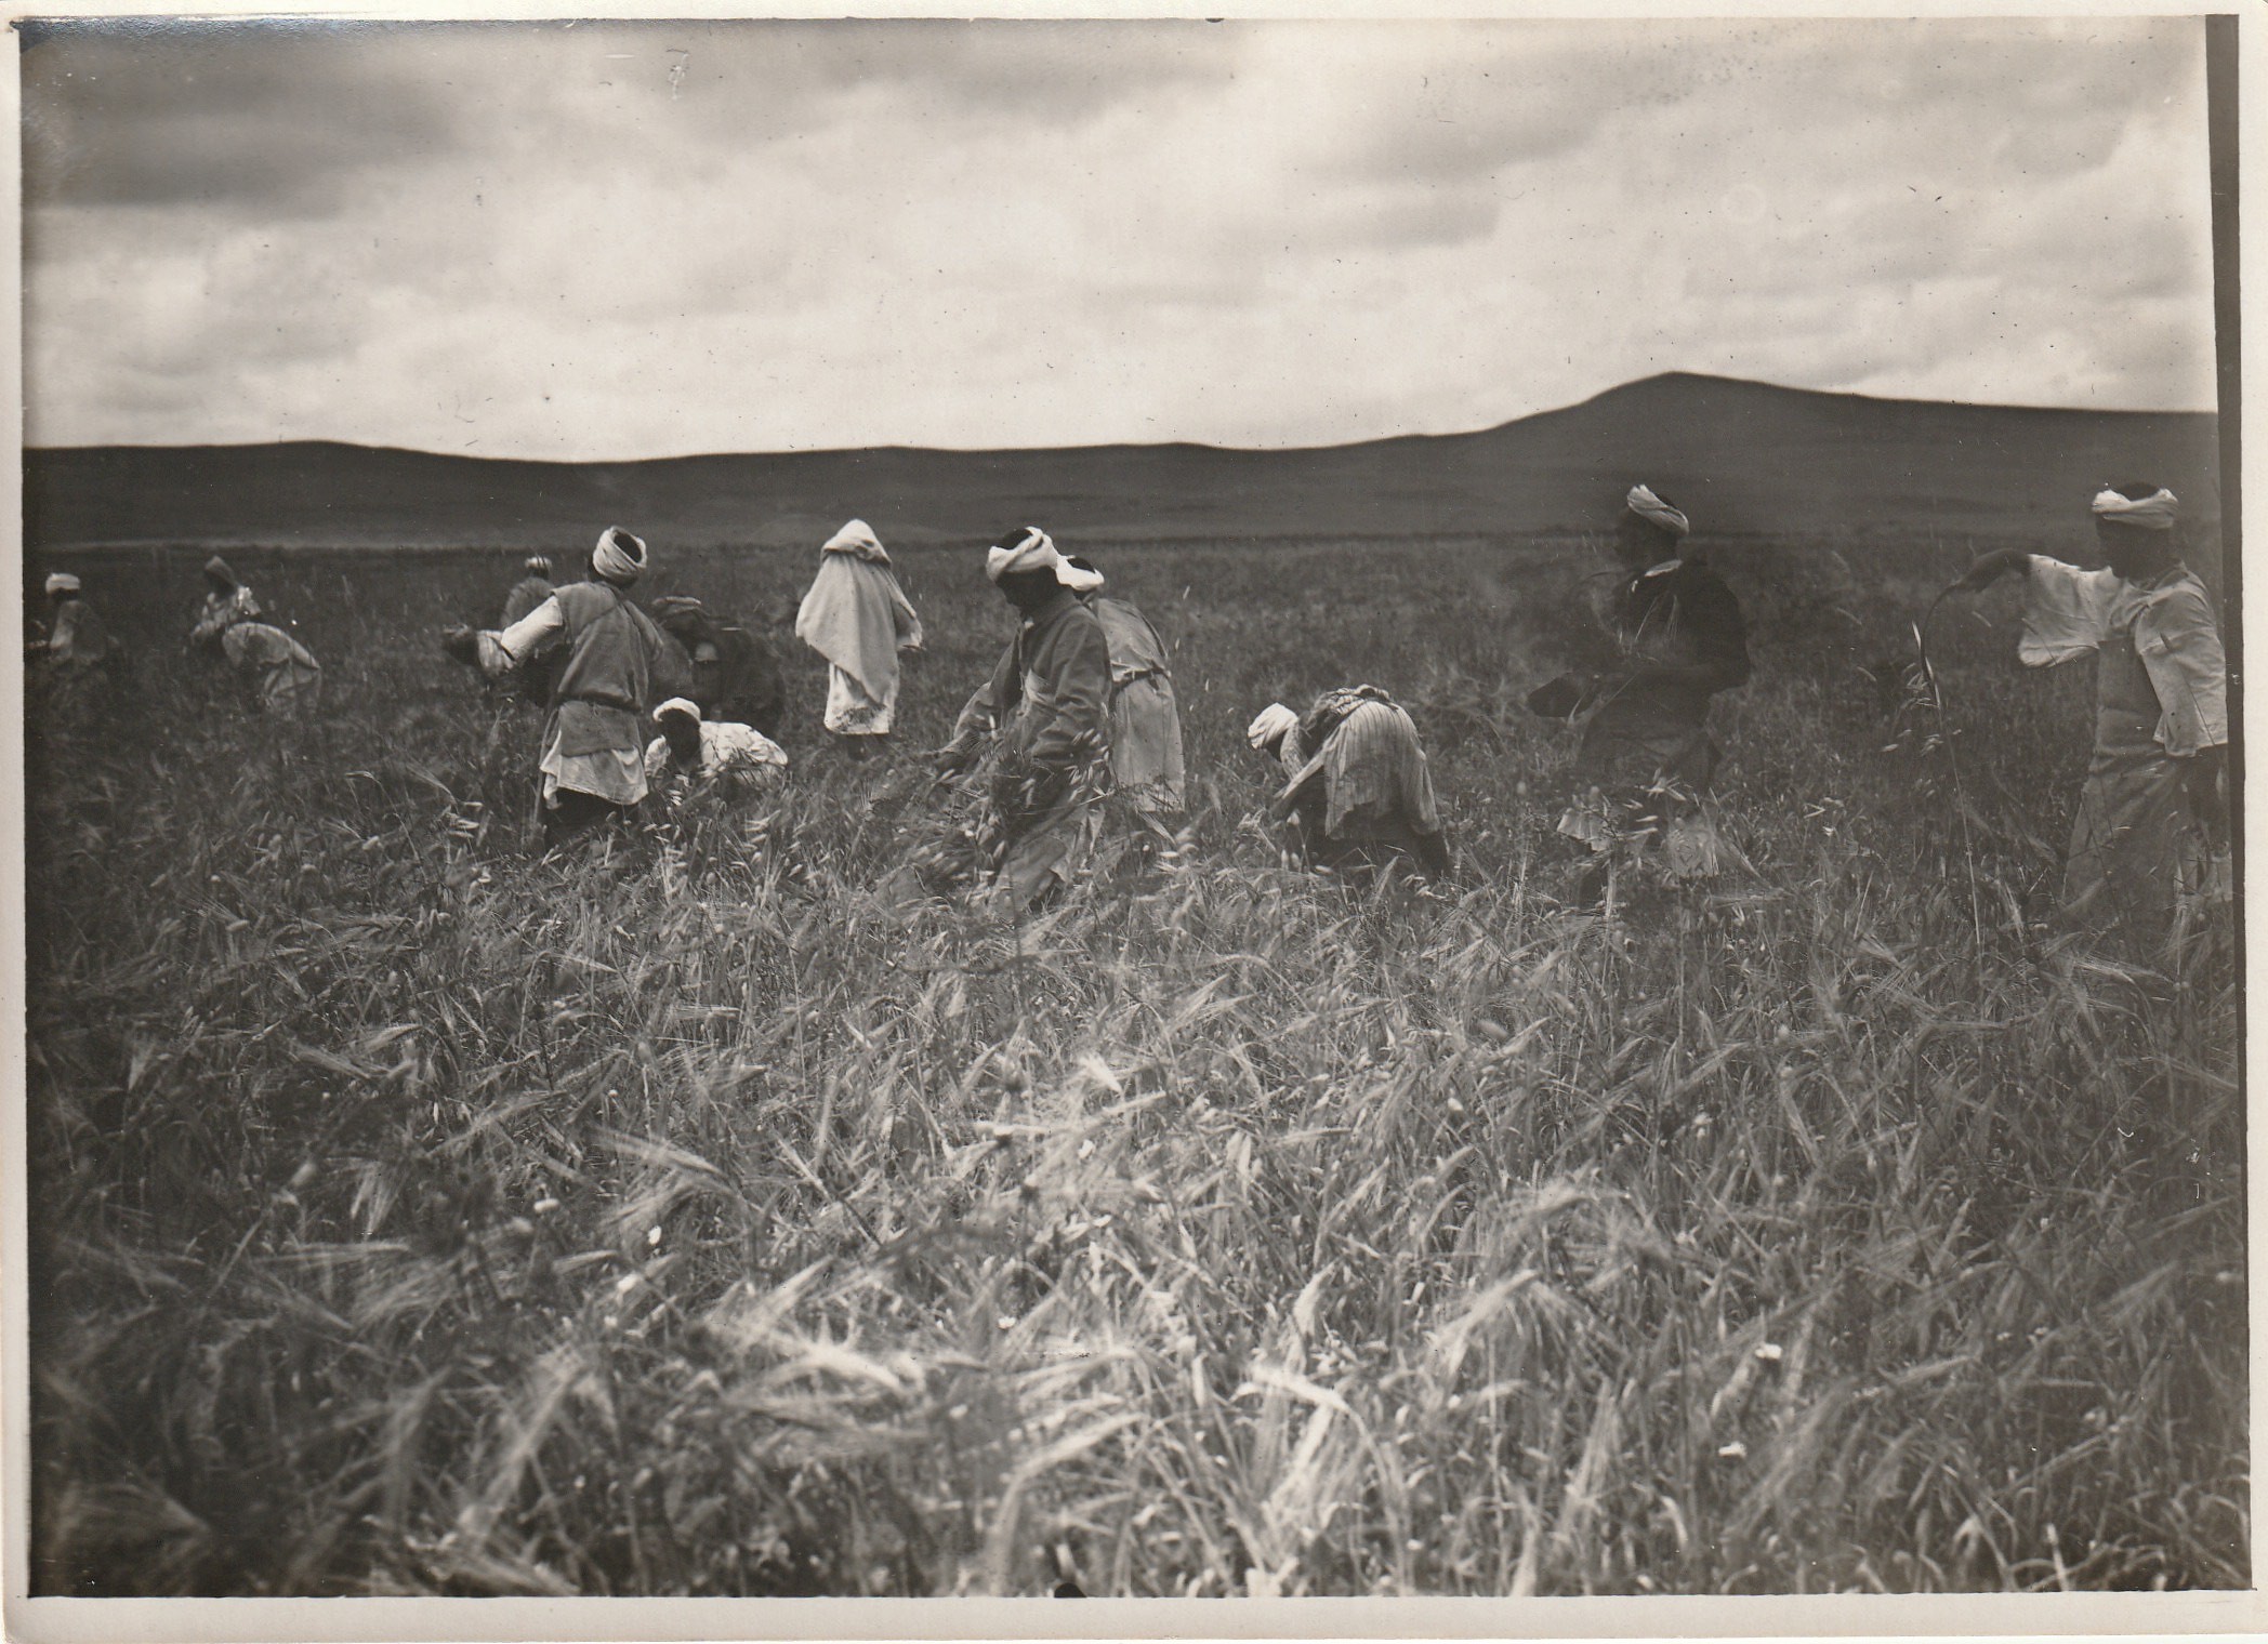
[[[1427,878],[1449,875],[1417,726],[1377,685],[1329,689],[1304,717],[1268,703],[1245,742],[1284,771],[1268,816],[1300,859],[1331,871],[1408,862]]]

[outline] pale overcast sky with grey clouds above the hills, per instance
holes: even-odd
[[[82,27],[23,86],[34,444],[2214,404],[2193,18]]]

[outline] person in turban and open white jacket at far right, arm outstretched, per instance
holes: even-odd
[[[2023,578],[2025,667],[2096,655],[2064,918],[2134,959],[2180,964],[2204,909],[2229,900],[2229,667],[2211,594],[2182,562],[2173,492],[2121,485],[2093,515],[2105,569],[2003,549],[1955,587]]]

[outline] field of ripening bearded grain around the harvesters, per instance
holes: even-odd
[[[1896,685],[1969,546],[1724,546],[1753,871],[1601,918],[1520,707],[1590,549],[1118,544],[1191,834],[1023,927],[875,896],[975,551],[898,556],[896,762],[773,628],[787,791],[606,859],[433,644],[510,556],[231,553],[304,726],[181,655],[202,549],[73,556],[138,658],[29,707],[34,1592],[2245,1585],[2234,966],[2048,937],[2091,669],[1998,592]],[[655,556],[773,624],[816,558]],[[1245,721],[1347,680],[1440,893],[1256,825]]]

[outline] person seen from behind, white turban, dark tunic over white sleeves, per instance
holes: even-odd
[[[608,526],[590,553],[585,581],[556,587],[501,633],[474,635],[474,655],[488,678],[533,655],[560,655],[538,760],[547,846],[628,819],[646,798],[642,717],[653,678],[667,667],[669,642],[624,592],[644,569],[646,544]]]

